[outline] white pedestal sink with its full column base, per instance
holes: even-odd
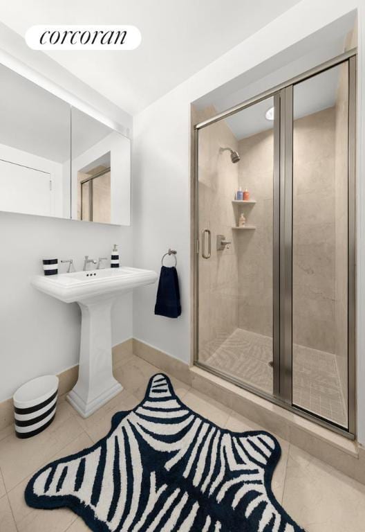
[[[156,279],[156,272],[129,267],[32,279],[32,285],[41,292],[64,303],[77,302],[81,308],[79,379],[67,400],[82,417],[93,414],[122,390],[113,377],[111,357],[111,308],[116,297]]]

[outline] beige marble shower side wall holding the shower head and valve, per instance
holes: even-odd
[[[214,109],[195,114],[199,121],[215,114]],[[203,128],[199,132],[199,233],[212,232],[212,257],[199,254],[199,355],[206,360],[236,330],[237,258],[232,225],[235,224],[232,199],[237,190],[238,165],[233,164],[230,152],[220,152],[229,146],[238,150],[238,143],[224,121]],[[224,235],[232,245],[216,251],[216,236]],[[200,242],[201,243],[201,242]]]

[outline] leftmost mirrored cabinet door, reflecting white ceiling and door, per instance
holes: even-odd
[[[70,218],[71,107],[0,65],[0,211]]]

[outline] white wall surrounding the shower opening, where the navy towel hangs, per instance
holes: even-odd
[[[156,288],[135,291],[133,296],[133,336],[189,362],[190,351],[190,211],[189,211],[189,103],[236,76],[247,73],[250,82],[265,76],[277,65],[292,61],[295,55],[308,53],[312,33],[353,9],[359,8],[359,98],[358,141],[364,139],[365,97],[364,30],[362,1],[303,0],[292,9],[246,39],[205,69],[169,92],[135,116],[133,121],[133,262],[137,267],[160,267],[160,258],[168,247],[178,251],[178,273],[182,295],[182,316],[177,320],[156,317],[153,305]],[[315,14],[315,15],[314,15]],[[306,39],[306,40],[302,40]],[[270,58],[272,57],[272,60]],[[265,61],[269,61],[269,64]],[[265,70],[266,69],[266,70]],[[285,80],[282,80],[285,81]],[[360,151],[360,150],[359,150]],[[365,310],[365,190],[362,184],[363,160],[359,172],[359,256],[358,319]],[[364,229],[363,229],[364,228]],[[359,321],[359,323],[362,323]],[[358,330],[358,405],[359,441],[365,443],[365,332]],[[364,383],[364,386],[362,386]]]

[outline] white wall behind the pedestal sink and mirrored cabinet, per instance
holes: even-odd
[[[16,46],[12,46],[13,39]],[[118,125],[124,134],[131,132],[131,116],[21,41],[1,32],[0,46],[12,55],[1,53],[0,60],[6,60],[10,67],[18,65],[24,72],[26,67],[14,59],[17,57],[39,73],[47,73],[51,90],[55,87],[52,76],[62,87],[60,95],[69,91],[66,96],[74,103],[82,100],[92,105],[93,109],[84,105],[84,112],[93,112],[95,118],[106,117],[107,125]],[[59,373],[78,362],[77,304],[61,303],[30,285],[31,276],[42,272],[41,258],[73,258],[81,269],[84,255],[110,256],[114,243],[119,246],[122,265],[131,265],[131,227],[0,213],[0,401],[12,396],[23,382],[45,373]],[[114,345],[132,335],[132,304],[132,294],[127,294],[115,305]]]

